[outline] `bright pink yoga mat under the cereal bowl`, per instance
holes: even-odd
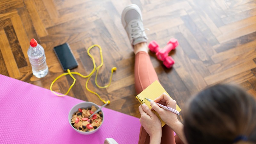
[[[48,89],[0,75],[0,143],[103,144],[106,138],[119,144],[138,143],[139,118],[107,108],[103,108],[105,120],[96,133],[75,132],[68,123],[68,112],[79,102],[83,101],[58,97]]]

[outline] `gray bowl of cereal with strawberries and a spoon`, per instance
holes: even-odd
[[[68,114],[71,127],[80,134],[92,134],[99,130],[104,121],[103,111],[100,110],[89,118],[100,107],[93,102],[76,104]]]

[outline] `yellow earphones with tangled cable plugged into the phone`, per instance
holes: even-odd
[[[98,48],[100,49],[101,64],[100,64],[99,66],[97,66],[97,67],[96,67],[94,58],[92,57],[92,55],[91,55],[90,52],[89,52],[90,49],[92,49],[92,48],[94,48],[94,47],[98,47]],[[101,99],[101,97],[100,97],[99,94],[97,94],[96,92],[93,92],[92,90],[90,90],[90,89],[88,88],[88,81],[89,81],[90,78],[92,77],[93,73],[96,71],[96,76],[95,76],[95,84],[96,84],[96,86],[99,87],[99,88],[106,88],[106,87],[109,87],[109,85],[111,84],[111,81],[112,81],[113,72],[116,71],[116,67],[112,67],[112,69],[111,69],[111,75],[110,75],[109,83],[108,83],[106,86],[102,86],[102,87],[101,87],[101,86],[99,86],[98,83],[97,83],[97,77],[98,77],[99,69],[100,69],[100,67],[103,65],[102,49],[101,49],[100,45],[94,44],[94,45],[92,45],[91,47],[89,47],[88,50],[87,50],[87,54],[92,58],[92,62],[93,62],[93,70],[92,70],[92,72],[91,72],[90,74],[84,76],[84,75],[82,75],[82,74],[79,73],[79,72],[70,72],[70,70],[68,69],[68,72],[61,74],[61,75],[58,76],[55,80],[52,81],[52,84],[51,84],[51,86],[50,86],[50,90],[52,91],[53,94],[58,95],[58,96],[65,96],[65,95],[67,95],[68,92],[70,91],[70,89],[71,89],[71,88],[74,86],[74,84],[76,83],[76,78],[75,78],[72,74],[77,74],[77,75],[79,75],[79,76],[81,76],[81,77],[83,77],[83,78],[88,78],[88,77],[89,77],[89,78],[86,80],[86,83],[85,83],[86,89],[87,89],[89,92],[93,93],[94,95],[97,95],[97,96],[99,97],[99,99],[100,99],[102,102],[104,102],[104,103],[107,103],[107,102],[108,102],[108,104],[109,104],[109,103],[110,103],[109,100],[108,100],[108,101],[104,101],[103,99]],[[56,80],[58,80],[60,77],[62,77],[62,76],[64,76],[64,75],[68,75],[68,74],[71,76],[71,78],[72,78],[74,81],[73,81],[72,85],[69,87],[69,89],[68,89],[68,91],[67,91],[66,94],[64,94],[64,95],[59,95],[59,94],[57,94],[56,92],[54,92],[54,91],[52,90],[52,85],[53,85],[54,82],[55,82]]]

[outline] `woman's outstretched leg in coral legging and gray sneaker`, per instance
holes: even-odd
[[[121,18],[122,24],[134,46],[135,53],[135,88],[139,94],[152,82],[158,80],[156,71],[150,61],[147,47],[147,35],[142,23],[142,14],[140,8],[131,4],[124,8]],[[143,127],[140,128],[139,143],[149,143],[149,135]],[[175,144],[173,131],[169,126],[162,128],[161,143]]]

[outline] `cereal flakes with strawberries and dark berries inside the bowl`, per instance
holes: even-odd
[[[79,108],[71,118],[71,124],[74,128],[82,132],[90,132],[97,129],[102,124],[103,115],[99,111],[95,115],[91,116],[97,108],[92,106],[90,108]]]

